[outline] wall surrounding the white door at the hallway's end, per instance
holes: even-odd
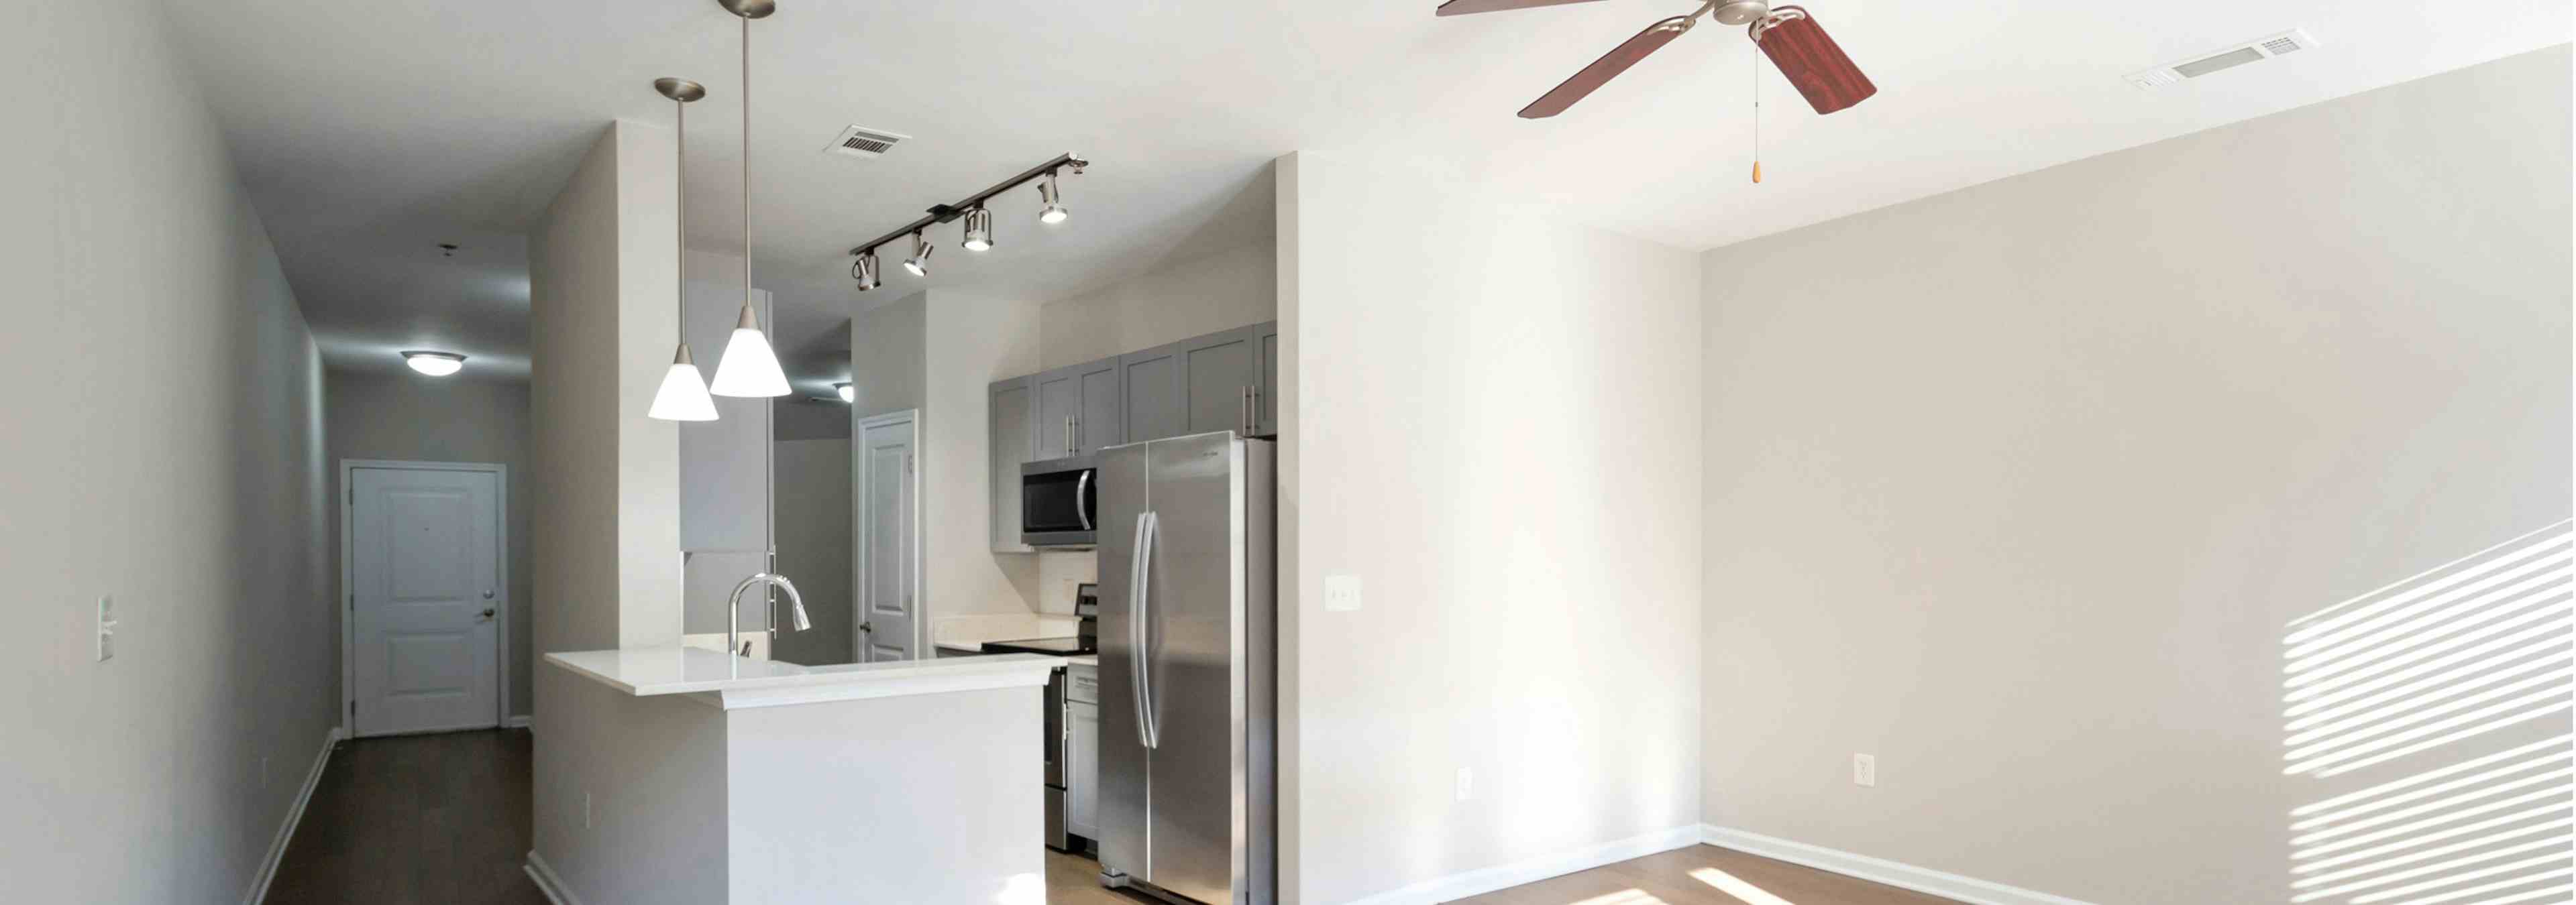
[[[531,692],[531,609],[536,602],[528,563],[528,506],[546,491],[528,470],[528,383],[474,381],[469,375],[425,378],[415,373],[363,375],[330,373],[330,401],[325,427],[330,432],[330,506],[327,537],[332,540],[332,586],[340,581],[340,460],[412,460],[412,463],[502,463],[510,468],[510,712],[528,712]],[[345,599],[340,586],[332,599]],[[340,656],[340,614],[332,607],[332,663]],[[337,668],[337,666],[335,666]],[[332,674],[337,681],[337,671]],[[335,694],[337,699],[337,694]]]

